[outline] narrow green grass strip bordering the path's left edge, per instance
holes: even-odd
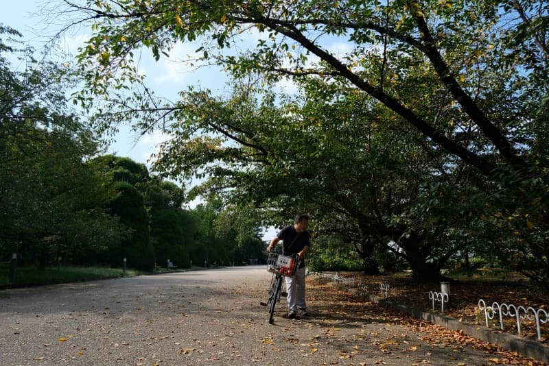
[[[0,286],[8,286],[9,265],[0,265]],[[17,267],[13,286],[36,286],[43,284],[58,284],[102,280],[137,275],[137,271],[106,267]]]

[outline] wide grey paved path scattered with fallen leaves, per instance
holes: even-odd
[[[0,291],[0,365],[482,365],[470,347],[423,341],[406,322],[309,301],[266,322],[270,273],[235,267]],[[314,298],[329,293],[314,293]]]

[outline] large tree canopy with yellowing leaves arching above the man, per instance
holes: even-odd
[[[367,267],[387,249],[428,278],[463,250],[495,247],[547,285],[547,115],[536,110],[549,84],[546,3],[87,5],[95,34],[79,56],[89,71],[82,104],[105,101],[102,128],[109,111],[137,119],[137,130],[169,130],[156,169],[208,178],[195,193],[270,221],[308,211],[323,234],[370,258]],[[257,45],[226,52],[249,27]],[[266,83],[290,77],[302,98],[259,100],[259,88],[239,86],[231,98],[191,89],[162,106],[148,92],[108,93],[143,82],[135,49],[158,59],[191,40],[203,41],[198,62]],[[349,51],[329,51],[334,40]],[[213,238],[201,239],[213,247]]]

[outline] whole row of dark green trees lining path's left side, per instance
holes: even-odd
[[[152,270],[167,259],[187,267],[248,258],[234,235],[215,230],[222,206],[185,210],[183,188],[151,176],[145,164],[97,156],[102,141],[65,95],[78,75],[69,64],[34,60],[19,37],[0,25],[2,260],[18,253],[20,263],[40,267],[121,266],[127,258]],[[8,61],[17,58],[23,71]]]

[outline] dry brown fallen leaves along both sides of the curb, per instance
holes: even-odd
[[[373,295],[379,295],[379,283],[390,284],[390,290],[388,299],[415,308],[421,308],[423,310],[432,311],[432,300],[428,299],[429,291],[440,291],[434,286],[437,284],[414,284],[411,278],[406,276],[361,276],[358,273],[342,273],[342,276],[354,276],[355,283],[361,282],[367,284],[369,293]],[[330,292],[329,297],[323,296],[326,291]],[[536,304],[547,304],[547,295],[541,292],[536,293],[531,291],[529,286],[520,286],[513,283],[498,283],[498,282],[484,282],[478,284],[476,282],[452,282],[452,307],[445,311],[445,315],[461,319],[462,321],[468,321],[473,324],[485,325],[484,316],[480,317],[478,312],[478,300],[484,298],[484,300],[490,304],[497,302],[494,297],[496,294],[502,295],[500,302],[506,302],[507,304],[525,304],[527,306]],[[480,297],[478,297],[480,296]],[[478,298],[477,298],[478,297]],[[473,347],[475,350],[480,350],[487,354],[486,365],[525,365],[525,366],[541,366],[546,363],[536,361],[533,358],[522,356],[517,352],[511,352],[504,350],[498,345],[484,342],[480,339],[470,337],[463,332],[454,332],[448,330],[442,326],[427,323],[423,320],[408,317],[407,315],[397,313],[395,310],[384,308],[382,306],[375,306],[375,313],[364,314],[366,308],[372,308],[371,302],[364,300],[363,297],[353,295],[349,291],[344,289],[338,289],[338,286],[333,286],[330,281],[323,278],[312,277],[307,280],[307,299],[314,302],[315,306],[320,308],[320,313],[330,309],[332,315],[336,317],[347,319],[356,319],[359,315],[364,318],[366,316],[369,322],[386,323],[386,330],[388,334],[379,334],[377,339],[371,341],[371,345],[375,345],[384,352],[390,352],[390,347],[395,345],[405,345],[406,351],[416,352],[418,347],[421,347],[421,343],[410,344],[410,341],[406,340],[405,334],[391,333],[391,324],[407,325],[414,332],[419,332],[421,337],[420,341],[429,343],[431,345],[439,345],[443,347]],[[523,306],[524,306],[523,305]],[[515,325],[516,328],[516,325]],[[524,328],[524,330],[523,330]],[[549,328],[546,326],[546,328]],[[513,330],[512,326],[506,328],[511,334],[516,334],[516,330]],[[533,337],[535,333],[535,325],[528,327],[526,324],[521,323],[521,331],[527,334],[527,337]],[[547,332],[547,329],[545,330]],[[513,333],[514,332],[514,333]],[[331,328],[326,330],[323,337],[336,337],[337,330]],[[369,334],[371,337],[373,334]],[[386,336],[384,338],[384,336]],[[364,334],[355,334],[356,339],[364,339]],[[389,338],[387,338],[389,337]],[[545,336],[546,337],[546,336]]]

